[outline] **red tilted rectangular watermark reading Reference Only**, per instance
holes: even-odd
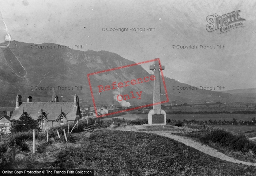
[[[143,105],[143,106],[137,106],[137,107],[132,107],[132,108],[129,108],[129,109],[123,109],[123,110],[118,110],[118,111],[115,111],[115,112],[111,112],[111,113],[106,113],[106,114],[101,114],[99,113],[99,111],[97,110],[97,106],[96,106],[96,103],[95,103],[95,99],[94,99],[94,93],[93,93],[93,87],[91,85],[91,81],[90,81],[90,76],[92,75],[98,75],[98,74],[102,74],[102,73],[107,73],[109,71],[115,71],[115,70],[119,70],[119,69],[124,69],[124,68],[128,68],[128,67],[133,67],[133,66],[138,66],[138,65],[141,65],[141,64],[144,64],[144,63],[150,63],[150,62],[155,62],[155,61],[158,61],[159,65],[160,65],[160,68],[161,68],[161,62],[160,62],[160,59],[159,58],[156,58],[156,59],[152,59],[152,60],[147,60],[147,61],[144,61],[144,62],[139,62],[139,63],[134,63],[134,64],[129,64],[129,65],[126,65],[126,66],[120,66],[120,67],[116,67],[116,68],[113,68],[113,69],[107,69],[107,70],[102,70],[102,71],[97,71],[97,72],[94,72],[94,73],[90,73],[90,74],[87,74],[87,79],[88,79],[88,82],[89,82],[89,86],[90,86],[90,91],[91,91],[91,97],[93,99],[93,106],[94,106],[94,110],[95,110],[95,115],[96,117],[104,117],[104,116],[109,116],[109,115],[113,115],[113,114],[117,114],[117,113],[123,113],[123,112],[127,112],[127,111],[131,111],[131,110],[136,110],[136,109],[141,109],[143,107],[148,107],[148,106],[153,106],[153,105],[157,105],[157,104],[161,104],[161,103],[166,103],[166,102],[169,102],[169,97],[168,97],[168,94],[167,94],[167,89],[166,89],[166,85],[165,85],[165,79],[164,79],[164,76],[163,76],[163,72],[162,72],[162,69],[160,69],[160,73],[161,73],[161,78],[162,78],[162,83],[163,83],[163,88],[164,88],[164,91],[165,91],[165,95],[166,95],[166,100],[165,101],[161,101],[161,102],[156,102],[156,103],[151,103],[151,104],[148,104],[148,105]],[[151,76],[147,76],[147,77],[144,77],[144,78],[137,78],[137,79],[132,79],[131,81],[120,81],[120,82],[112,82],[112,85],[98,85],[97,86],[97,89],[98,89],[98,93],[101,94],[101,93],[104,93],[104,92],[107,92],[109,90],[114,90],[115,89],[121,89],[121,88],[124,88],[124,87],[128,87],[128,86],[132,86],[132,85],[135,85],[137,84],[137,81],[138,81],[138,84],[140,83],[143,83],[144,82],[151,82],[151,81],[154,81],[155,80],[155,76],[154,75],[151,75]],[[130,85],[129,85],[130,83]],[[94,87],[95,88],[95,87]],[[121,91],[122,92],[122,91]],[[120,92],[120,93],[121,93]],[[137,99],[141,99],[141,95],[142,95],[142,91],[138,91],[136,93],[133,93],[133,91],[130,92],[131,93],[131,98],[129,98],[129,95],[126,94],[126,95],[114,95],[114,97],[116,96],[116,101],[124,101],[127,100],[127,99],[132,99],[132,98],[137,98],[137,95],[139,98]],[[114,93],[113,93],[114,94]],[[152,99],[153,101],[153,99]],[[101,107],[100,107],[101,108]],[[99,113],[99,114],[98,114]]]

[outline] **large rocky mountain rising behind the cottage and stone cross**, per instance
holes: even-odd
[[[91,92],[87,80],[87,74],[97,71],[112,69],[135,62],[127,60],[120,55],[108,51],[81,51],[74,49],[36,49],[30,46],[58,45],[54,43],[25,43],[12,41],[10,48],[12,52],[22,63],[27,71],[25,78],[19,78],[12,72],[4,58],[3,51],[0,51],[0,88],[2,94],[0,98],[0,106],[15,106],[16,95],[21,94],[23,97],[31,95],[33,101],[53,101],[55,95],[58,95],[60,101],[73,101],[74,94],[79,96],[79,101],[84,105],[92,104]],[[64,45],[61,45],[64,46]],[[91,85],[93,86],[94,99],[97,104],[118,104],[120,103],[114,96],[116,95],[112,90],[108,93],[99,94],[98,85],[109,85],[112,82],[124,82],[127,80],[143,78],[150,76],[141,65],[134,67],[127,67],[118,69],[108,73],[101,73],[90,77]],[[232,97],[231,94],[225,92],[217,92],[210,90],[173,90],[172,87],[194,87],[185,83],[180,83],[174,79],[165,77],[166,89],[169,96],[169,102],[176,101],[180,103],[191,102],[229,102],[237,101],[251,101],[248,98]],[[77,90],[31,90],[30,87],[83,87]],[[153,82],[146,84],[136,84],[123,89],[118,89],[118,93],[129,94],[131,91],[142,91],[142,99],[128,99],[132,104],[147,104],[153,102]],[[166,95],[161,83],[162,101],[165,101]],[[24,101],[24,99],[23,99]]]

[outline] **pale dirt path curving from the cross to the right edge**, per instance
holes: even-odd
[[[134,131],[134,132],[137,131],[132,126],[119,127],[119,128],[116,128],[115,130]],[[203,152],[203,153],[205,153],[207,155],[210,155],[210,156],[213,156],[213,157],[217,157],[221,160],[226,160],[226,161],[229,161],[229,162],[232,162],[232,163],[238,163],[238,164],[241,163],[241,164],[244,164],[244,165],[256,166],[256,163],[249,163],[249,162],[233,159],[233,158],[231,158],[231,157],[229,157],[229,156],[227,156],[227,155],[225,155],[221,152],[218,152],[218,150],[216,150],[214,148],[211,148],[207,145],[204,145],[200,142],[196,142],[196,141],[194,141],[192,139],[189,139],[189,138],[186,138],[186,137],[176,136],[174,134],[170,134],[169,131],[144,131],[144,133],[154,133],[154,134],[157,134],[157,135],[160,135],[160,136],[165,136],[165,137],[171,138],[171,139],[176,140],[178,142],[181,142],[185,145],[193,147],[193,148],[199,150],[200,152]]]

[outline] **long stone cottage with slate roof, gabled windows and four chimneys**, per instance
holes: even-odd
[[[27,102],[22,102],[22,97],[17,95],[16,107],[11,120],[19,120],[21,116],[29,116],[37,120],[41,129],[60,126],[82,118],[79,99],[75,94],[74,102],[59,102],[56,96],[54,102],[32,102],[32,97],[27,97]]]

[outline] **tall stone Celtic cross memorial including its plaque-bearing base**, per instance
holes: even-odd
[[[153,109],[148,113],[149,125],[166,125],[166,113],[161,109],[161,86],[160,86],[160,72],[164,70],[165,66],[160,65],[158,60],[150,66],[150,70],[153,70],[155,75],[154,80],[154,97],[153,97]]]

